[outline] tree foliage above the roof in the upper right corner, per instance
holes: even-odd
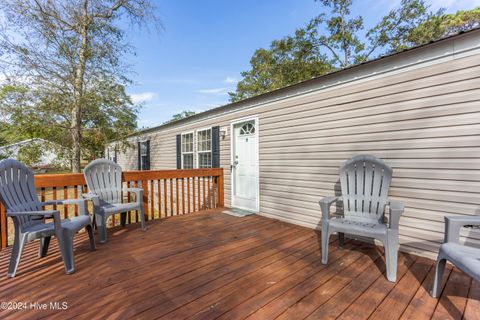
[[[407,46],[421,45],[478,26],[480,26],[480,7],[452,14],[434,15],[408,34]]]

